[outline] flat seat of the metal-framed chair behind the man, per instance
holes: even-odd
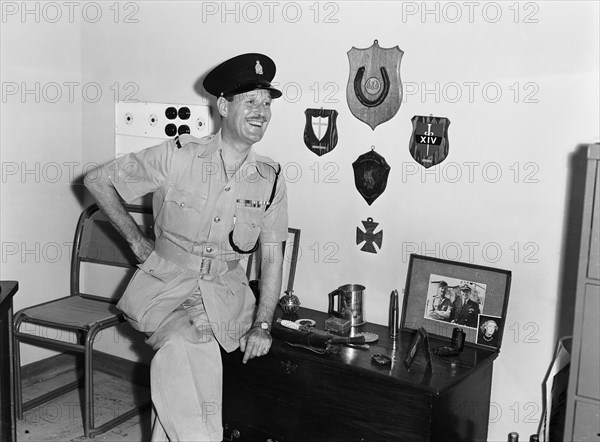
[[[69,328],[88,328],[97,322],[121,317],[121,311],[112,303],[68,296],[23,310],[23,320],[63,324]]]

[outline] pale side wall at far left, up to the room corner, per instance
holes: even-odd
[[[19,281],[17,311],[69,294],[81,210],[81,30],[40,19],[39,2],[24,17],[11,6],[20,10],[2,4],[0,265],[2,279]],[[23,346],[23,363],[50,354]]]

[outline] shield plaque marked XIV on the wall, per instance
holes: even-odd
[[[414,160],[426,169],[441,163],[448,156],[448,126],[450,120],[430,115],[412,117],[413,131],[409,151]]]

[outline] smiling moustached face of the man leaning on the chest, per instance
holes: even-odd
[[[271,101],[271,93],[264,89],[234,95],[231,101],[219,97],[223,136],[247,145],[260,141],[271,120]]]

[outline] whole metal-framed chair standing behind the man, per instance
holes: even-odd
[[[127,204],[123,207],[142,231],[152,231],[151,207]],[[151,238],[152,235],[149,234],[148,237]],[[133,408],[120,412],[115,409],[113,416],[108,417],[107,421],[102,419],[104,422],[96,425],[98,407],[94,395],[94,371],[101,370],[102,367],[100,364],[94,364],[94,354],[97,353],[94,344],[103,330],[125,320],[124,314],[116,306],[116,300],[137,270],[137,259],[127,241],[97,204],[91,205],[81,213],[75,229],[72,252],[68,292],[70,296],[25,307],[14,315],[14,405],[15,416],[22,420],[25,411],[51,401],[67,391],[81,388],[83,433],[87,440],[125,422],[139,414],[142,409],[149,408],[150,402],[136,404]],[[82,287],[85,287],[85,293],[80,291]],[[26,327],[24,324],[33,324],[35,327]],[[49,333],[43,330],[46,328],[50,330]],[[68,333],[57,333],[54,336],[53,329],[66,330]],[[57,386],[51,391],[23,401],[20,351],[22,343],[79,355],[76,358],[76,369],[81,369],[82,376],[77,381]]]

